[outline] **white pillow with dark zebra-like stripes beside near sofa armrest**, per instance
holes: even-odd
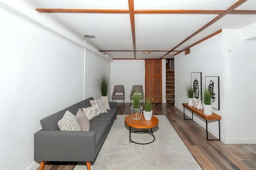
[[[70,111],[66,111],[62,119],[58,121],[58,127],[60,130],[81,131],[76,117]]]

